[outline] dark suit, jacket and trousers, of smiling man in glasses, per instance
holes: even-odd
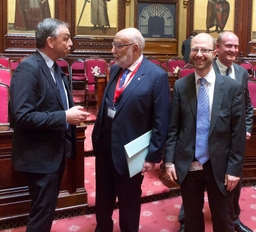
[[[243,88],[235,80],[216,74],[208,139],[210,160],[203,165],[203,171],[189,172],[195,159],[196,107],[195,76],[190,74],[175,82],[165,152],[165,161],[175,164],[181,185],[185,231],[204,231],[200,211],[204,191],[201,187],[204,185],[208,191],[214,231],[234,231],[232,192],[226,190],[224,179],[225,174],[241,176],[242,173],[245,151],[245,113],[241,110],[245,107]],[[189,189],[192,180],[198,180],[195,183],[201,185]],[[230,219],[221,222],[228,215]],[[194,221],[196,224],[193,224]]]

